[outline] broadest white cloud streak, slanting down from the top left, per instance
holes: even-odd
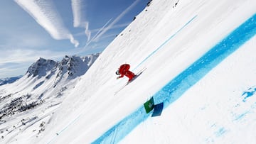
[[[71,43],[78,47],[78,40],[65,28],[55,7],[50,0],[15,0],[26,12],[28,12],[38,24],[48,31],[56,40],[69,39]]]

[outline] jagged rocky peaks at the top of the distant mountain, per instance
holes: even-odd
[[[43,57],[39,57],[38,60],[28,68],[26,74],[28,77],[38,76],[38,78],[41,78],[50,73],[46,77],[49,78],[54,73],[57,73],[57,77],[63,77],[65,75],[65,77],[73,79],[85,74],[99,55],[100,53],[87,55],[85,57],[80,57],[78,55],[65,55],[63,60],[60,62],[46,60]]]

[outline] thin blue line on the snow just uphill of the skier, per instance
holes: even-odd
[[[142,63],[144,63],[146,60],[149,59],[149,57],[151,57],[152,55],[154,55],[158,50],[160,50],[161,48],[163,48],[164,45],[166,45],[166,43],[168,43],[171,38],[174,38],[174,36],[180,32],[181,30],[183,30],[183,28],[185,28],[186,26],[188,26],[189,23],[191,23],[191,21],[193,21],[193,19],[195,19],[198,15],[194,16],[193,18],[191,18],[191,20],[189,20],[184,26],[182,26],[180,29],[178,29],[178,31],[176,31],[176,33],[174,33],[173,35],[170,36],[170,38],[168,38],[167,40],[164,41],[164,43],[162,43],[158,48],[156,48],[156,50],[154,50],[153,52],[151,52],[151,54],[149,54],[144,60],[142,60],[142,62],[139,63],[139,65],[137,65],[137,67],[134,68],[134,70],[136,70],[140,65],[142,65]],[[133,71],[134,71],[133,70]]]

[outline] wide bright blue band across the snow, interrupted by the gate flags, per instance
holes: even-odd
[[[238,50],[247,40],[256,35],[256,13],[242,23],[226,38],[211,48],[205,55],[196,60],[190,67],[178,74],[166,86],[154,94],[156,103],[164,102],[164,109],[182,96],[196,82],[202,79],[210,70],[216,67],[226,57]],[[151,112],[152,113],[152,112]],[[131,113],[115,126],[105,132],[92,143],[118,143],[135,127],[146,121],[150,114],[146,114],[144,106]]]

